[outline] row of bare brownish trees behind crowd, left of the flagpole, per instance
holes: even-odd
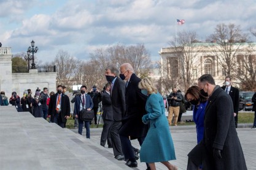
[[[93,85],[103,89],[106,84],[105,69],[109,65],[119,68],[128,62],[134,68],[134,73],[143,78],[152,68],[150,54],[142,44],[114,45],[109,48],[99,48],[90,54],[89,61],[78,61],[67,51],[60,50],[56,54],[54,64],[57,67],[57,84],[71,87],[74,84],[85,84],[88,90]]]

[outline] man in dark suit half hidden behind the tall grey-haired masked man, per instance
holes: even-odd
[[[113,111],[112,111],[112,101],[111,101],[111,84],[107,83],[105,85],[105,91],[102,94],[102,104],[103,104],[103,131],[101,133],[101,146],[105,146],[106,141],[109,148],[112,147],[111,133],[109,128],[114,122]]]

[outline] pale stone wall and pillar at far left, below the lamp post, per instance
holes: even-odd
[[[33,94],[37,87],[48,87],[50,91],[56,91],[56,72],[38,72],[37,69],[29,70],[29,73],[12,73],[12,53],[10,47],[0,47],[0,91],[4,91],[10,98],[12,92],[22,96],[26,89],[31,89]]]

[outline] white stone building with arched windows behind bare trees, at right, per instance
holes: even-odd
[[[250,51],[253,57],[255,57],[255,43],[252,44],[253,50]],[[195,43],[193,45],[193,48],[187,48],[185,49],[183,46],[181,47],[171,47],[171,48],[161,48],[161,51],[159,52],[161,56],[161,72],[163,73],[165,78],[173,79],[176,81],[176,87],[178,89],[184,88],[184,83],[180,82],[180,77],[182,76],[182,73],[187,72],[184,67],[184,57],[186,55],[190,55],[192,57],[191,60],[191,67],[188,70],[190,72],[190,80],[193,84],[197,84],[198,78],[201,75],[204,75],[206,73],[211,74],[215,79],[215,84],[219,86],[223,86],[225,76],[227,76],[227,73],[225,71],[225,68],[222,67],[222,64],[220,64],[221,59],[219,56],[221,56],[223,53],[223,50],[221,48],[216,47],[216,43]],[[239,46],[233,46],[236,50],[233,51],[232,54],[235,56],[235,71],[231,73],[232,74],[238,74],[239,69],[241,68],[241,65],[239,65],[239,57],[243,57],[248,55],[248,43],[239,44]],[[239,50],[238,50],[239,49]],[[184,54],[189,53],[189,54]],[[219,57],[219,58],[218,58]],[[255,57],[256,59],[256,57]],[[254,61],[255,61],[254,59]],[[255,68],[256,69],[256,68]],[[233,76],[233,86],[239,87],[239,80],[235,79],[235,76]]]

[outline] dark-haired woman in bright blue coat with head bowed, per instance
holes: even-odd
[[[185,98],[191,105],[194,105],[193,120],[196,124],[197,143],[199,143],[204,136],[204,113],[208,97],[201,95],[198,86],[191,86],[188,88]]]

